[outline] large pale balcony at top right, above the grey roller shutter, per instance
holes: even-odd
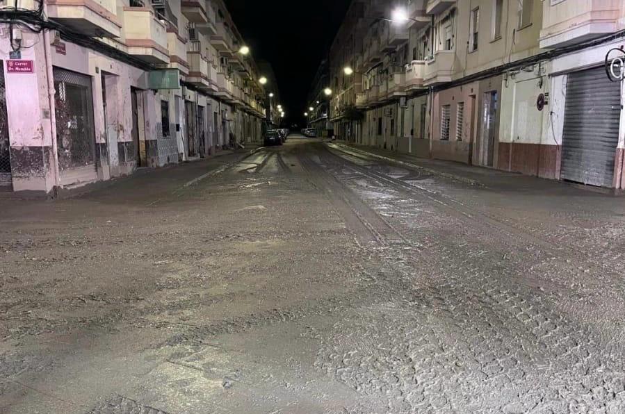
[[[562,1],[551,6],[545,1],[540,47],[565,47],[619,31],[622,3],[617,0]]]

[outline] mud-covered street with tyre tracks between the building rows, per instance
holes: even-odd
[[[624,413],[625,202],[290,138],[0,201],[0,413]]]

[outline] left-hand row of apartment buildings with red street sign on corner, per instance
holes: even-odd
[[[0,7],[3,190],[52,192],[261,140],[268,90],[221,0]]]

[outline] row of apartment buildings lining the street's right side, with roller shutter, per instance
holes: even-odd
[[[329,54],[334,133],[416,156],[625,188],[622,88],[604,65],[624,42],[624,7],[353,1]]]

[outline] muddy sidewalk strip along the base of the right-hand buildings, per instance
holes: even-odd
[[[386,149],[379,149],[367,145],[351,144],[346,141],[334,141],[343,149],[357,151],[385,160],[390,163],[396,163],[412,169],[419,169],[437,176],[444,176],[455,181],[462,181],[470,185],[476,185],[491,190],[506,191],[545,191],[549,194],[575,194],[577,192],[599,192],[601,194],[614,194],[610,189],[588,187],[581,184],[567,183],[565,181],[555,181],[549,179],[541,179],[536,176],[526,176],[516,172],[501,171],[487,167],[479,167],[474,165],[466,165],[456,163],[454,161],[434,160],[431,158],[418,158],[410,154],[401,154]]]

